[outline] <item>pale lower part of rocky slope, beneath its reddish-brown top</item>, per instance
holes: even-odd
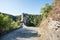
[[[60,21],[46,18],[41,23],[40,40],[60,40]]]

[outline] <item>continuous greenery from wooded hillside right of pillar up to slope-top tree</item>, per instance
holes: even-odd
[[[48,17],[49,12],[52,10],[52,6],[48,3],[41,9],[41,15],[29,15],[29,22],[33,24],[33,26],[39,26],[43,17]]]

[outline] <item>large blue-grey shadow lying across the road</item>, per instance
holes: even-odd
[[[33,37],[33,38],[37,37],[37,33],[34,30],[21,28],[0,37],[0,39],[1,40],[17,40],[16,38],[30,38],[30,37]]]

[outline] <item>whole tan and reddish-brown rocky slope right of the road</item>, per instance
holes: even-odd
[[[60,0],[55,0],[55,6],[40,25],[40,40],[60,40]]]

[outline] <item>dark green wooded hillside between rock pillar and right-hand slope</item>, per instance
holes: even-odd
[[[32,26],[39,26],[40,20],[40,15],[29,15],[28,22]]]

